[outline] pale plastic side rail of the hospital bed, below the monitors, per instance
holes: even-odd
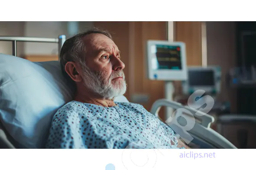
[[[195,124],[193,128],[188,129],[188,134],[191,136],[187,138],[190,143],[199,146],[199,148],[210,149],[210,148],[220,148],[220,149],[232,149],[236,148],[230,141],[224,138],[222,135],[214,131],[210,128],[211,123],[214,122],[214,117],[211,115],[207,115],[197,109],[190,108],[188,106],[183,106],[181,103],[177,103],[174,101],[168,101],[167,99],[159,99],[154,102],[151,113],[158,117],[158,111],[161,109],[162,106],[171,107],[173,109],[179,110],[182,109],[182,114],[187,119],[192,119],[194,117]],[[177,119],[177,123],[181,126],[186,126],[187,119],[181,119],[180,115],[175,116],[175,111],[173,117]],[[168,121],[166,122],[167,125],[170,125]],[[175,127],[174,127],[175,128]],[[178,132],[184,134],[182,129],[178,129]],[[181,138],[185,139],[186,135],[181,136]]]

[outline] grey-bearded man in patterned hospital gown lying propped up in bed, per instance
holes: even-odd
[[[76,94],[54,115],[46,148],[181,148],[174,131],[143,106],[114,102],[126,91],[125,64],[108,32],[69,38],[60,63]]]

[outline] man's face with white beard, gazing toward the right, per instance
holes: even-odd
[[[85,42],[83,81],[85,87],[105,99],[123,95],[126,91],[125,64],[115,43],[105,35],[90,34]]]

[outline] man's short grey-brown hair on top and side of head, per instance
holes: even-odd
[[[69,77],[69,75],[65,71],[66,63],[69,61],[79,62],[81,66],[85,67],[85,43],[82,41],[82,38],[85,37],[85,35],[89,34],[103,34],[106,35],[108,38],[112,39],[111,34],[108,31],[103,31],[98,28],[90,29],[86,32],[79,33],[77,35],[74,35],[73,37],[67,39],[60,51],[59,58],[60,58],[60,65],[63,74],[66,77]],[[69,77],[70,78],[70,77]]]

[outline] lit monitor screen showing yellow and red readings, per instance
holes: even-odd
[[[156,45],[155,48],[155,69],[182,69],[180,46]]]

